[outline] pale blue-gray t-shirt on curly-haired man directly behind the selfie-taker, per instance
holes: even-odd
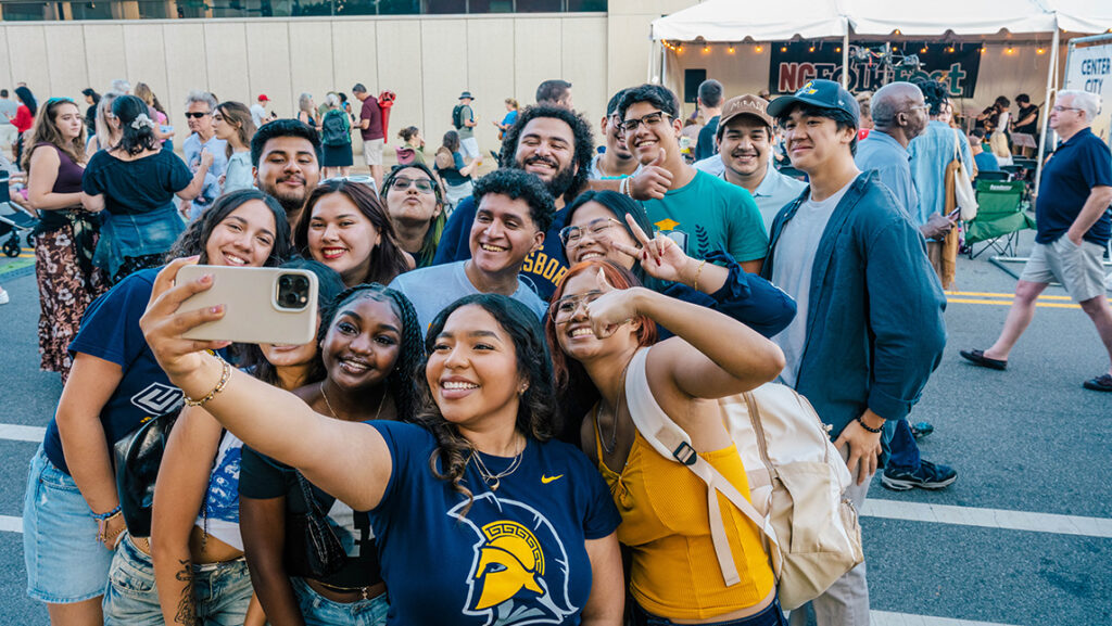
[[[390,289],[401,291],[414,304],[423,336],[436,315],[445,307],[464,296],[480,292],[467,278],[467,272],[464,270],[466,264],[464,260],[415,269],[398,275],[390,282]],[[517,279],[517,291],[510,297],[536,311],[537,317],[544,320],[548,306],[520,277]]]

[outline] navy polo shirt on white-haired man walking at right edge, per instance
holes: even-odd
[[[1052,244],[1078,219],[1093,187],[1112,187],[1112,153],[1088,128],[1058,147],[1043,167],[1035,201],[1035,241]],[[1085,232],[1085,241],[1109,242],[1112,216],[1105,207],[1101,218]]]

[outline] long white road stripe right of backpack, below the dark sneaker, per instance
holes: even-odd
[[[865,500],[865,508],[862,510],[862,515],[887,519],[927,521],[932,524],[955,524],[959,526],[981,526],[1005,530],[1030,530],[1034,533],[1112,538],[1112,519],[1103,517],[1081,517],[1076,515],[931,505],[883,499]]]

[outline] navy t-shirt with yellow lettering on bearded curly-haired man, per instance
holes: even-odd
[[[451,211],[451,217],[448,218],[448,223],[444,226],[444,232],[440,235],[433,265],[466,261],[471,258],[471,222],[475,221],[477,212],[475,198],[465,198],[456,210]],[[556,290],[556,285],[567,274],[567,257],[564,256],[564,244],[559,240],[559,231],[566,220],[566,208],[556,211],[552,227],[545,232],[544,247],[525,257],[525,265],[518,274],[546,302]]]

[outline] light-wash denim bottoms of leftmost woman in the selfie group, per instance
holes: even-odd
[[[27,595],[72,604],[103,595],[112,553],[97,540],[97,520],[77,484],[47,458],[31,459],[23,498]]]

